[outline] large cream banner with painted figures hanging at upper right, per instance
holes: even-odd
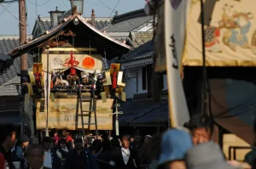
[[[183,65],[202,65],[200,2],[191,5]],[[205,1],[206,65],[256,65],[255,5],[255,0]]]

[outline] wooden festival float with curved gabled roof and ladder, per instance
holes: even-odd
[[[75,10],[42,37],[15,48],[10,53],[14,58],[29,53],[40,60],[27,72],[26,82],[25,102],[36,106],[35,128],[112,130],[113,101],[125,101],[125,83],[119,64],[108,69],[102,64],[131,49]]]

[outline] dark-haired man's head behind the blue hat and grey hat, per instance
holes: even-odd
[[[207,143],[212,138],[213,122],[209,116],[193,116],[187,127],[191,132],[194,145]]]

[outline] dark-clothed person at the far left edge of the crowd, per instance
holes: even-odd
[[[11,149],[16,143],[15,127],[12,124],[3,124],[0,126],[0,152],[4,155],[5,166],[9,166],[9,169],[15,169],[15,166],[11,160]]]

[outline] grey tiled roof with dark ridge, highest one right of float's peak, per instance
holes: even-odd
[[[103,30],[107,32],[130,32],[147,25],[151,20],[153,20],[152,16],[146,15],[143,9],[139,9],[114,16],[112,25],[109,25]]]

